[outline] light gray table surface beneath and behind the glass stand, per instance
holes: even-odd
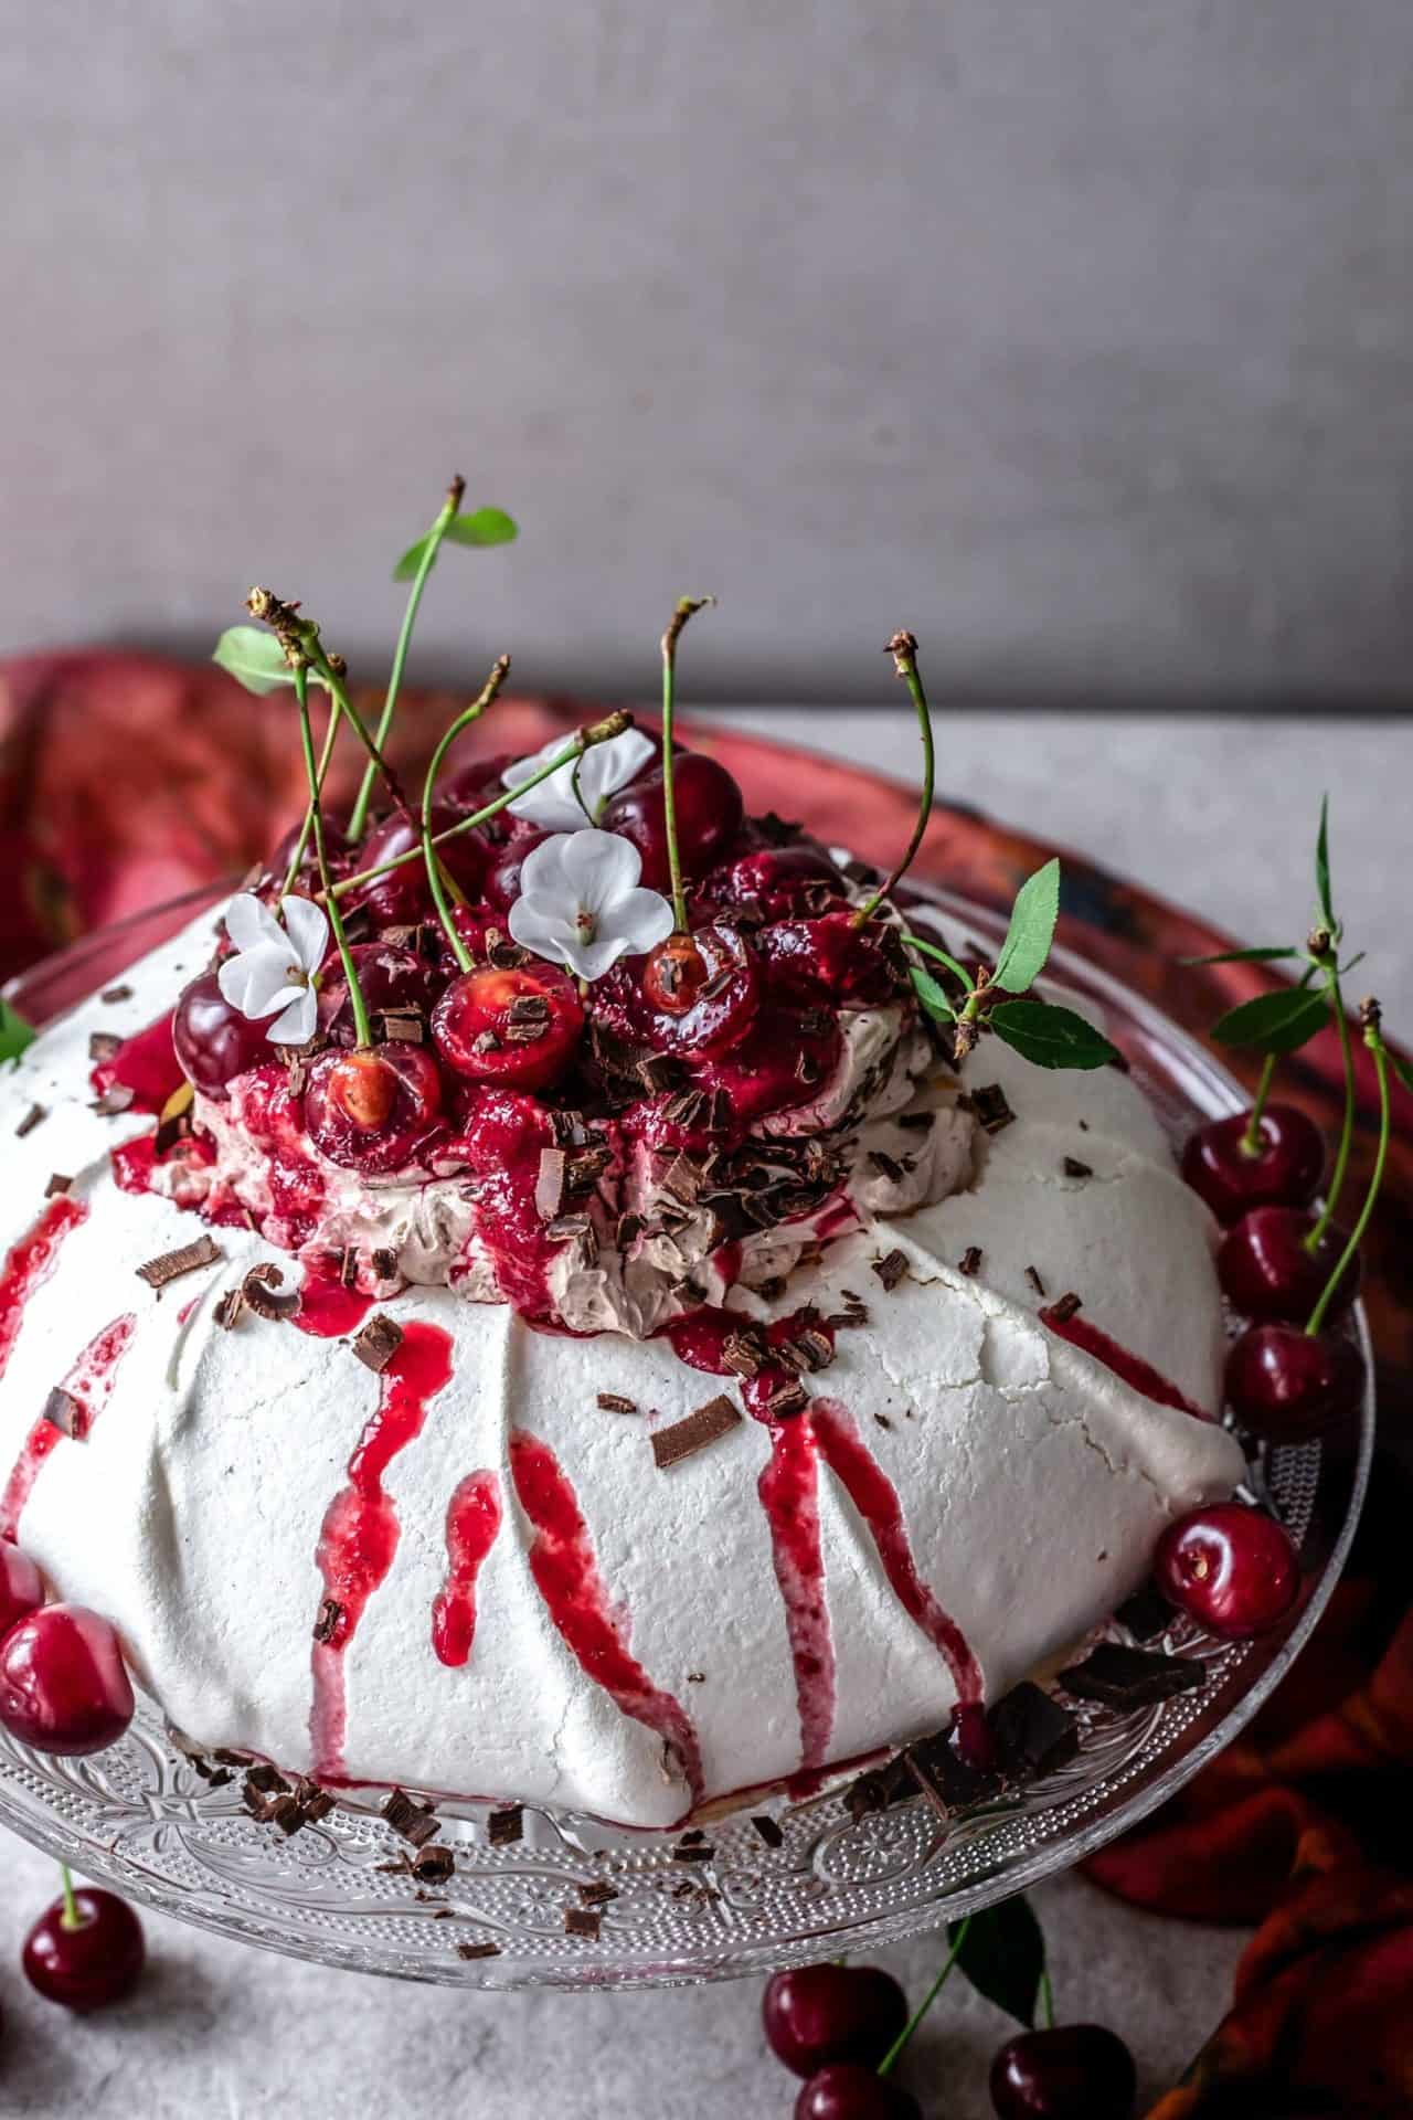
[[[705,719],[705,717],[703,717]],[[907,712],[775,708],[714,719],[915,774]],[[1244,939],[1309,916],[1320,793],[1362,986],[1413,1026],[1413,939],[1394,884],[1409,852],[1413,723],[947,714],[941,784],[1087,848]],[[794,2080],[758,2029],[758,1982],[644,1995],[449,1995],[324,1972],[148,1916],[150,1978],[121,2012],[70,2020],[17,1967],[53,1866],[0,1842],[0,2114],[28,2120],[769,2120]],[[1220,2016],[1239,1933],[1133,1914],[1078,1878],[1036,1893],[1061,2014],[1102,2018],[1157,2092]],[[938,1944],[879,1955],[919,1995]],[[907,2080],[928,2120],[989,2112],[985,2067],[1006,2025],[955,1984]]]

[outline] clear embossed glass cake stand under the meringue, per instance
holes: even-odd
[[[919,897],[945,916],[953,941],[977,937],[994,954],[994,914],[947,893]],[[49,1022],[208,903],[216,893],[110,926],[13,982],[8,999],[32,1022]],[[1063,950],[1053,971],[1104,1013],[1174,1132],[1244,1102],[1231,1077],[1138,994]],[[1352,1329],[1369,1355],[1362,1312]],[[1201,1690],[1129,1713],[1080,1702],[1078,1757],[949,1821],[922,1798],[858,1823],[837,1791],[801,1804],[758,1800],[750,1808],[775,1819],[780,1847],[739,1813],[705,1825],[708,1861],[682,1863],[672,1853],[676,1836],[534,1808],[517,1844],[489,1847],[483,1810],[441,1806],[455,1870],[449,1883],[424,1887],[407,1870],[407,1842],[377,1815],[377,1794],[350,1798],[284,1838],[246,1813],[239,1774],[210,1787],[195,1772],[146,1698],[127,1736],[89,1760],[51,1760],[0,1732],[0,1821],[182,1921],[407,1980],[667,1986],[837,1957],[938,1929],[1066,1870],[1229,1745],[1290,1668],[1335,1588],[1371,1450],[1373,1395],[1352,1444],[1265,1450],[1252,1461],[1250,1486],[1280,1512],[1305,1567],[1303,1598],[1275,1635],[1231,1645],[1174,1622],[1161,1645],[1203,1666]],[[595,1938],[566,1933],[564,1921],[566,1908],[585,1904],[587,1885],[616,1893],[602,1906]]]

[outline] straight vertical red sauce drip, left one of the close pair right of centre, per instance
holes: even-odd
[[[811,1774],[828,1760],[835,1728],[835,1639],[824,1601],[816,1442],[807,1420],[775,1427],[756,1492],[771,1526],[775,1582],[786,1607],[801,1774]]]

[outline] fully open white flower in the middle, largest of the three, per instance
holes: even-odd
[[[616,831],[557,831],[525,854],[511,935],[521,950],[602,979],[672,935],[672,905],[642,890],[642,854]]]

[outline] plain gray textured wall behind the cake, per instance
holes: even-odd
[[[0,644],[1409,697],[1409,0],[0,8]]]

